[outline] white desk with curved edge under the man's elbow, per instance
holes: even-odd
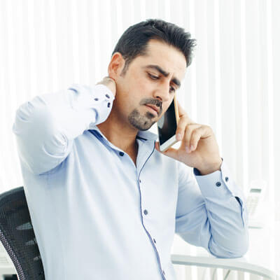
[[[172,263],[235,269],[258,274],[268,279],[280,279],[280,242],[276,239],[280,237],[279,233],[279,223],[274,223],[272,226],[267,225],[263,229],[250,228],[249,248],[243,258],[215,258],[201,247],[197,248],[197,252],[186,255],[181,253],[183,248],[174,248]],[[274,239],[274,237],[276,238]],[[182,242],[186,243],[183,240]],[[187,244],[187,246],[189,245]]]

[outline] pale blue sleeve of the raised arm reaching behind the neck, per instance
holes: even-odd
[[[115,92],[105,84],[73,85],[36,96],[18,108],[13,132],[20,160],[31,172],[42,174],[59,165],[73,139],[108,118]]]

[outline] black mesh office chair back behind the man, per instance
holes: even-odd
[[[0,194],[0,240],[19,280],[45,279],[23,187]]]

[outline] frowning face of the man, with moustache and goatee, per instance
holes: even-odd
[[[147,55],[133,59],[125,75],[116,78],[113,109],[118,118],[137,130],[148,130],[167,111],[185,72],[186,58],[180,50],[150,40]]]

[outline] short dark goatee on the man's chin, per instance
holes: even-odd
[[[155,115],[152,113],[146,112],[144,116],[142,116],[137,109],[134,109],[128,116],[130,124],[136,127],[137,130],[141,131],[148,130],[152,127],[155,123],[155,120],[152,120],[153,118],[155,118]]]

